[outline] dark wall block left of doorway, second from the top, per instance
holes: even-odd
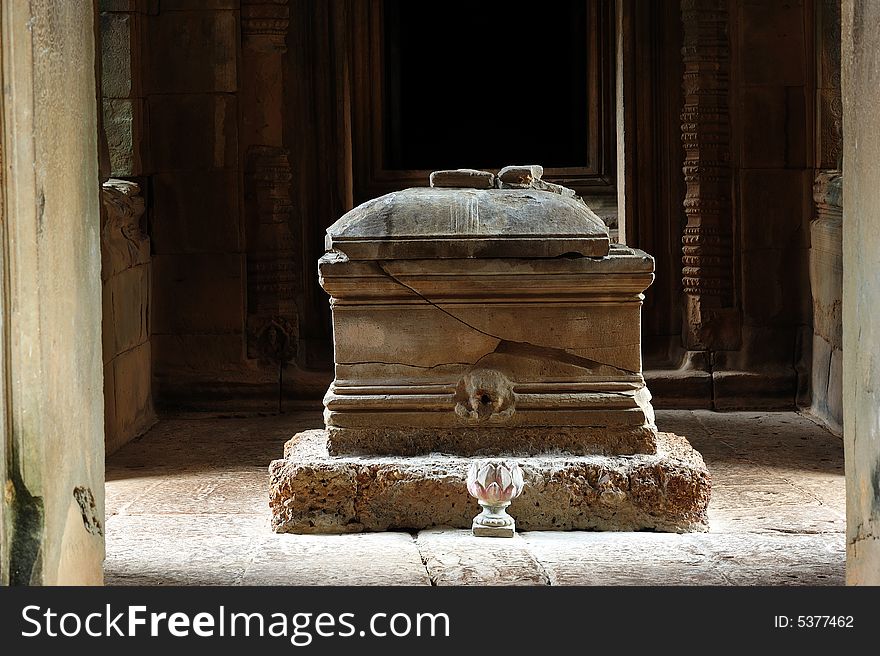
[[[154,171],[238,167],[235,96],[169,94],[151,96],[150,162]]]

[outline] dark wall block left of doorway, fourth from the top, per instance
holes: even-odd
[[[242,256],[157,254],[153,258],[153,333],[240,332]]]

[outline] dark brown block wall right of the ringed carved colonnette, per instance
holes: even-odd
[[[732,220],[738,348],[713,355],[714,406],[793,407],[810,325],[813,63],[807,3],[731,5]]]

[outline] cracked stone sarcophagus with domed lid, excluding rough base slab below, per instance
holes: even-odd
[[[653,453],[645,253],[579,200],[407,189],[331,226],[333,453]]]

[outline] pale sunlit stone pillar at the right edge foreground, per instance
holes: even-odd
[[[880,584],[880,4],[842,3],[846,578]]]

